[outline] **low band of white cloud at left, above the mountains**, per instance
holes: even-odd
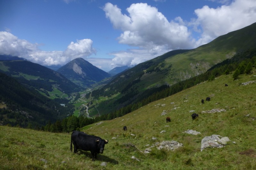
[[[37,44],[21,40],[11,33],[0,32],[0,54],[19,56],[41,65],[64,65],[77,58],[96,54],[92,40],[82,39],[71,42],[65,51],[42,51]]]

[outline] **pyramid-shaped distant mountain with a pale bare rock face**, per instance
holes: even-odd
[[[111,77],[107,72],[97,68],[83,58],[76,58],[60,67],[57,72],[82,87],[90,87],[104,78]]]

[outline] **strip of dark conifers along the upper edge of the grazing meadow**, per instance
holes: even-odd
[[[213,66],[211,69],[199,76],[181,81],[172,86],[163,86],[162,88],[154,89],[154,91],[148,91],[148,96],[141,96],[141,98],[139,98],[139,100],[136,100],[137,102],[135,102],[134,104],[122,107],[113,112],[109,112],[106,115],[97,116],[95,119],[84,118],[83,116],[71,116],[60,122],[47,124],[44,129],[51,132],[68,132],[82,128],[83,126],[92,124],[93,122],[112,120],[117,117],[121,117],[128,113],[131,113],[139,109],[140,107],[147,105],[150,102],[166,98],[202,82],[213,81],[215,78],[221,75],[232,75],[233,81],[236,81],[241,75],[251,75],[252,70],[255,70],[255,68],[256,49],[247,50],[235,55],[231,59],[227,59]]]

